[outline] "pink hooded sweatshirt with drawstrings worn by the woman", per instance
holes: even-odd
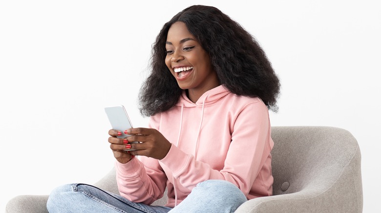
[[[192,103],[185,92],[176,106],[150,117],[172,146],[156,160],[140,156],[116,162],[122,196],[151,204],[168,187],[174,207],[196,186],[209,179],[236,185],[248,199],[272,195],[271,127],[266,105],[259,98],[238,96],[216,87]]]

